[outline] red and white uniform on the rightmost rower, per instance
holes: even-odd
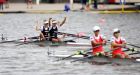
[[[119,37],[119,38],[112,37],[111,42],[114,42],[116,44],[122,44],[122,43],[126,42],[126,40],[123,37]],[[121,56],[126,56],[126,54],[122,51],[122,47],[111,46],[111,48],[113,50],[112,51],[113,57],[115,57],[118,54]]]

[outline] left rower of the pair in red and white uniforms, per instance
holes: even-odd
[[[100,27],[94,26],[93,27],[93,36],[90,37],[91,45],[92,45],[92,53],[95,56],[98,55],[105,55],[103,45],[106,44],[105,36],[100,34]]]

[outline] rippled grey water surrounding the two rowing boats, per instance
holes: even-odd
[[[61,14],[5,14],[0,16],[0,34],[8,40],[24,36],[37,36],[36,21],[42,25],[44,19],[52,17],[67,21],[59,31],[68,33],[84,32],[92,34],[92,27],[99,25],[101,32],[109,39],[113,28],[119,28],[121,35],[132,44],[140,46],[140,14],[93,14],[90,12],[69,12]],[[76,39],[78,42],[89,40]],[[59,46],[40,47],[35,44],[16,43],[0,44],[0,75],[139,75],[139,64],[131,65],[93,65],[90,63],[73,62],[69,60],[54,61],[47,54],[72,54],[83,47]],[[137,54],[137,56],[140,56]]]

